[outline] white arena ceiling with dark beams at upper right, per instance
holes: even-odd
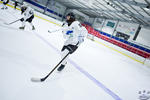
[[[150,27],[150,0],[55,0],[89,17],[138,23]]]

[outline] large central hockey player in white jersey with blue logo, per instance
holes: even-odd
[[[62,25],[63,36],[66,39],[64,46],[61,50],[62,58],[64,58],[68,53],[72,54],[84,41],[84,37],[87,34],[87,30],[83,27],[79,21],[75,20],[75,15],[73,13],[68,13],[66,16],[66,23]],[[57,71],[62,71],[67,63],[67,59],[63,60]]]

